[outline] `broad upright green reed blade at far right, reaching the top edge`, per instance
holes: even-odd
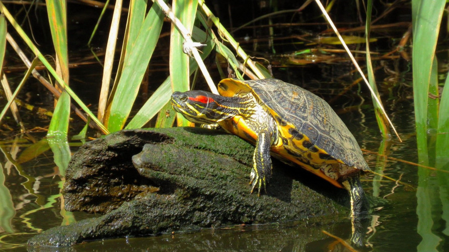
[[[428,163],[427,129],[429,84],[445,1],[412,1],[413,95],[420,162]]]

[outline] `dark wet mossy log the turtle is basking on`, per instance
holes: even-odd
[[[284,222],[348,214],[347,192],[299,168],[273,162],[267,193],[249,194],[254,147],[202,128],[123,130],[83,145],[63,189],[69,211],[98,218],[52,228],[32,246]],[[315,221],[313,221],[314,219]]]

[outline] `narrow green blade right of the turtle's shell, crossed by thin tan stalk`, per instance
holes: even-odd
[[[371,61],[371,53],[370,53],[370,29],[371,29],[371,12],[373,9],[373,0],[368,0],[367,10],[366,10],[366,25],[365,25],[365,35],[366,35],[366,68],[368,72],[368,80],[371,88],[374,91],[374,94],[377,96],[377,99],[381,101],[379,91],[377,90],[376,80],[374,78],[373,64]],[[373,94],[371,94],[373,96]],[[382,104],[382,102],[381,102]],[[382,108],[374,102],[373,97],[373,106],[374,112],[376,114],[377,125],[382,132],[382,136],[385,138],[390,138],[390,127],[388,126],[387,118],[385,118],[385,114],[382,113]]]

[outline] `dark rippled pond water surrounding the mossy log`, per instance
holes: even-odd
[[[325,66],[323,71],[329,70],[328,67]],[[328,101],[335,97],[334,93],[341,90],[341,84],[323,81],[310,81],[308,85],[304,85],[305,81],[300,80],[303,80],[303,73],[308,72],[307,68],[293,68],[282,72],[283,70],[276,70],[276,73],[284,75],[286,81],[307,86],[307,89],[320,94]],[[370,217],[365,236],[366,250],[449,251],[449,186],[441,182],[448,181],[449,174],[402,161],[418,162],[414,112],[409,93],[411,90],[402,84],[392,88],[385,76],[380,77],[380,80],[385,80],[380,83],[382,87],[386,87],[383,98],[387,111],[403,142],[399,142],[396,137],[388,142],[382,141],[371,101],[364,88],[355,87],[350,95],[347,94],[332,103],[332,107],[339,112],[342,120],[354,133],[371,169],[376,172],[362,178],[366,193],[387,200],[376,208]],[[37,139],[41,136],[34,133]],[[53,161],[52,152],[44,143],[31,144],[29,136],[19,135],[11,139],[0,144],[0,250],[27,250],[24,244],[33,235],[51,227],[93,217],[63,210],[60,190],[64,178]],[[71,144],[72,151],[80,144]],[[41,151],[42,148],[47,150]],[[36,153],[40,154],[36,156]],[[330,224],[320,225],[314,217],[310,217],[308,220],[289,223],[94,241],[58,250],[348,250],[330,235],[349,241],[349,218],[325,218],[328,219],[325,223]]]

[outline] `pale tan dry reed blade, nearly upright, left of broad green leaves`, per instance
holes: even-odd
[[[109,86],[111,83],[112,67],[114,63],[115,48],[117,44],[117,35],[122,13],[122,0],[115,1],[114,13],[112,15],[111,28],[109,30],[108,44],[106,45],[106,55],[103,64],[103,78],[101,80],[100,99],[98,101],[98,120],[103,122],[104,111],[109,95]]]

